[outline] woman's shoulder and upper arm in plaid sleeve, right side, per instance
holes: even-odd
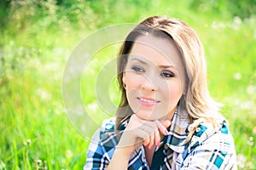
[[[184,167],[236,169],[236,150],[228,122],[219,119],[215,127],[201,122],[183,153]]]

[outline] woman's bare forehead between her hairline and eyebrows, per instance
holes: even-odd
[[[141,57],[155,65],[174,65],[182,68],[181,54],[171,39],[151,35],[138,37],[131,48],[131,58]]]

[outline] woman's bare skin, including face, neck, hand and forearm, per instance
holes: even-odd
[[[172,122],[185,88],[185,69],[171,39],[137,38],[123,73],[126,96],[134,114],[119,140],[108,169],[125,169],[131,153],[143,145],[150,166],[155,145]]]

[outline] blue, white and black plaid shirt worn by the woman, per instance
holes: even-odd
[[[92,137],[84,170],[107,169],[119,141],[114,122],[114,118],[104,121]],[[127,123],[123,122],[120,130]],[[169,135],[154,150],[150,169],[237,169],[234,141],[224,119],[218,123],[218,130],[210,122],[201,122],[189,143],[180,145],[188,136],[188,127],[187,112],[176,111]],[[131,154],[128,169],[149,169],[143,146]]]

